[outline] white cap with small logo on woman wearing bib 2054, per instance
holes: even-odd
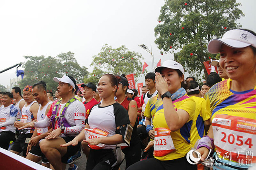
[[[230,30],[227,31],[221,39],[211,40],[208,43],[208,52],[212,54],[219,53],[222,44],[232,48],[244,48],[250,45],[256,48],[256,36],[240,29]]]

